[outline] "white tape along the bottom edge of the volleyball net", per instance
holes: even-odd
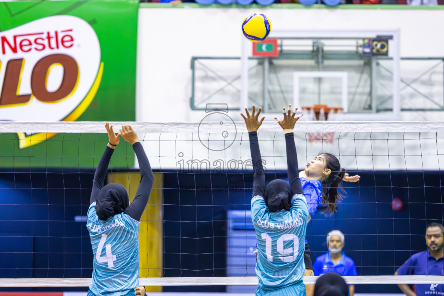
[[[319,276],[304,277],[304,284],[315,284]],[[443,276],[343,276],[347,284],[444,284]],[[87,287],[90,278],[81,279],[0,279],[0,287]],[[142,286],[258,285],[256,276],[143,277]]]

